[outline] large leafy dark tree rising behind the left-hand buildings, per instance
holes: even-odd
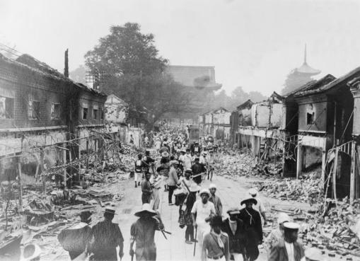
[[[140,32],[137,23],[112,26],[110,35],[85,54],[95,85],[115,93],[139,112],[139,120],[153,122],[166,112],[187,110],[185,87],[166,75],[167,60],[158,55],[152,34]]]

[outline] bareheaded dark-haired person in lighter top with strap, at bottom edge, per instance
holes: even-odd
[[[211,231],[204,236],[202,243],[202,261],[229,261],[228,235],[221,231],[221,216],[211,218]]]

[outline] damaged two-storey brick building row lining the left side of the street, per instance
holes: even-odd
[[[106,95],[28,54],[0,54],[0,177],[44,170],[98,150]],[[44,179],[42,179],[44,181]]]

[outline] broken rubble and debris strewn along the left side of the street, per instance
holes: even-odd
[[[79,221],[81,211],[91,211],[95,222],[102,216],[98,215],[101,208],[122,200],[124,194],[117,184],[128,178],[138,153],[134,147],[123,145],[120,153],[108,153],[105,161],[98,156],[81,161],[81,179],[71,189],[64,190],[54,179],[47,182],[46,195],[41,185],[24,186],[23,211],[18,210],[18,181],[1,182],[0,255],[7,245],[20,243],[37,243],[44,250],[42,257],[49,260],[63,255],[63,248],[54,248],[59,246],[59,232]]]

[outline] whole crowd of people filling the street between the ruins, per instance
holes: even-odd
[[[219,158],[218,146],[202,140],[189,144],[183,129],[151,133],[151,140],[153,148],[139,154],[134,162],[134,187],[141,188],[142,207],[135,213],[139,219],[131,227],[129,255],[135,255],[136,260],[156,260],[154,234],[169,233],[158,211],[160,199],[167,192],[169,206],[178,207],[180,228],[186,227],[185,243],[194,244],[194,251],[199,251],[202,261],[257,260],[262,244],[270,261],[318,260],[311,259],[318,258],[314,249],[308,250],[306,257],[297,240],[299,226],[287,214],[279,214],[279,226],[263,238],[267,216],[256,189],[250,189],[247,197],[239,200],[240,206],[223,212],[216,193],[218,187],[212,182]],[[204,186],[206,179],[211,182],[209,187]],[[114,215],[115,209],[106,208],[104,221],[91,229],[88,215],[83,216],[83,225],[74,228],[77,232],[71,234],[82,235],[83,243],[81,250],[69,251],[71,260],[83,252],[93,253],[93,260],[117,260],[117,254],[123,257],[124,239],[119,226],[112,223]],[[65,244],[68,237],[69,232],[63,231],[59,242]]]

